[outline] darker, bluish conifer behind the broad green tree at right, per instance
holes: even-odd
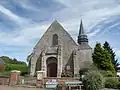
[[[104,44],[103,44],[103,48],[108,51],[108,53],[111,55],[111,62],[114,66],[114,69],[115,71],[117,71],[119,68],[119,63],[118,63],[118,60],[115,58],[115,52],[112,50],[112,48],[110,47],[109,43],[106,41]]]

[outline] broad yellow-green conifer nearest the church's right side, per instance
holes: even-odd
[[[106,50],[101,47],[100,43],[96,44],[92,57],[93,62],[98,69],[115,73],[114,67],[111,62],[111,56]]]

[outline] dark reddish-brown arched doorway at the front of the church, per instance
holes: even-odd
[[[57,59],[55,57],[47,59],[47,77],[57,77]]]

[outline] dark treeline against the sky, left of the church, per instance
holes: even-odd
[[[2,60],[4,60],[4,62],[5,62],[6,64],[24,64],[24,65],[26,65],[25,62],[23,62],[23,61],[18,61],[18,60],[15,59],[15,58],[11,59],[11,58],[9,58],[9,57],[7,57],[7,56],[1,56],[0,58],[1,58]]]

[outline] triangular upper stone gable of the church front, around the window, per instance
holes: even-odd
[[[55,20],[34,47],[34,52],[39,53],[45,47],[51,47],[54,35],[58,36],[58,44],[62,44],[63,46],[67,46],[65,44],[69,44],[70,46],[73,46],[70,48],[77,46],[76,42],[72,39],[68,32],[62,27],[60,23],[58,23],[58,21]]]

